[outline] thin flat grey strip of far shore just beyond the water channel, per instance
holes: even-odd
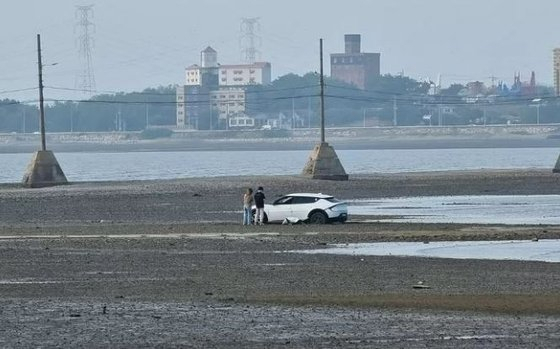
[[[560,148],[560,138],[543,136],[510,137],[383,137],[327,139],[337,150],[369,149],[468,149],[468,148]],[[255,139],[158,139],[129,140],[114,143],[49,142],[55,152],[165,152],[165,151],[289,151],[311,150],[316,140],[302,138]],[[0,154],[32,153],[40,143],[31,141],[0,144]]]

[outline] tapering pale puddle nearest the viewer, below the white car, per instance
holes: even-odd
[[[306,254],[402,256],[560,262],[560,239],[539,241],[436,241],[335,244],[325,249],[290,251]]]

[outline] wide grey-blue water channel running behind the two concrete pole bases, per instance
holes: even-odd
[[[188,177],[297,175],[309,151],[180,151],[56,153],[69,181],[174,179]],[[556,148],[340,150],[353,174],[477,169],[552,169]],[[0,154],[0,183],[23,178],[32,154]]]

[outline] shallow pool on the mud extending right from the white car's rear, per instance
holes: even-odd
[[[348,201],[350,215],[380,222],[560,224],[560,195],[425,196]],[[396,217],[396,218],[395,218]]]

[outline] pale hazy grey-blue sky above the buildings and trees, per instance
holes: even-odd
[[[94,5],[93,72],[99,91],[179,84],[186,66],[210,45],[222,64],[241,62],[240,23],[260,17],[262,60],[273,78],[318,71],[318,41],[344,51],[344,34],[362,35],[362,51],[381,52],[383,74],[442,83],[511,84],[513,74],[552,84],[552,49],[560,47],[556,0],[5,0],[0,12],[0,99],[35,99],[36,34],[46,86],[76,88],[80,72],[76,5]],[[46,90],[46,98],[79,98]]]

